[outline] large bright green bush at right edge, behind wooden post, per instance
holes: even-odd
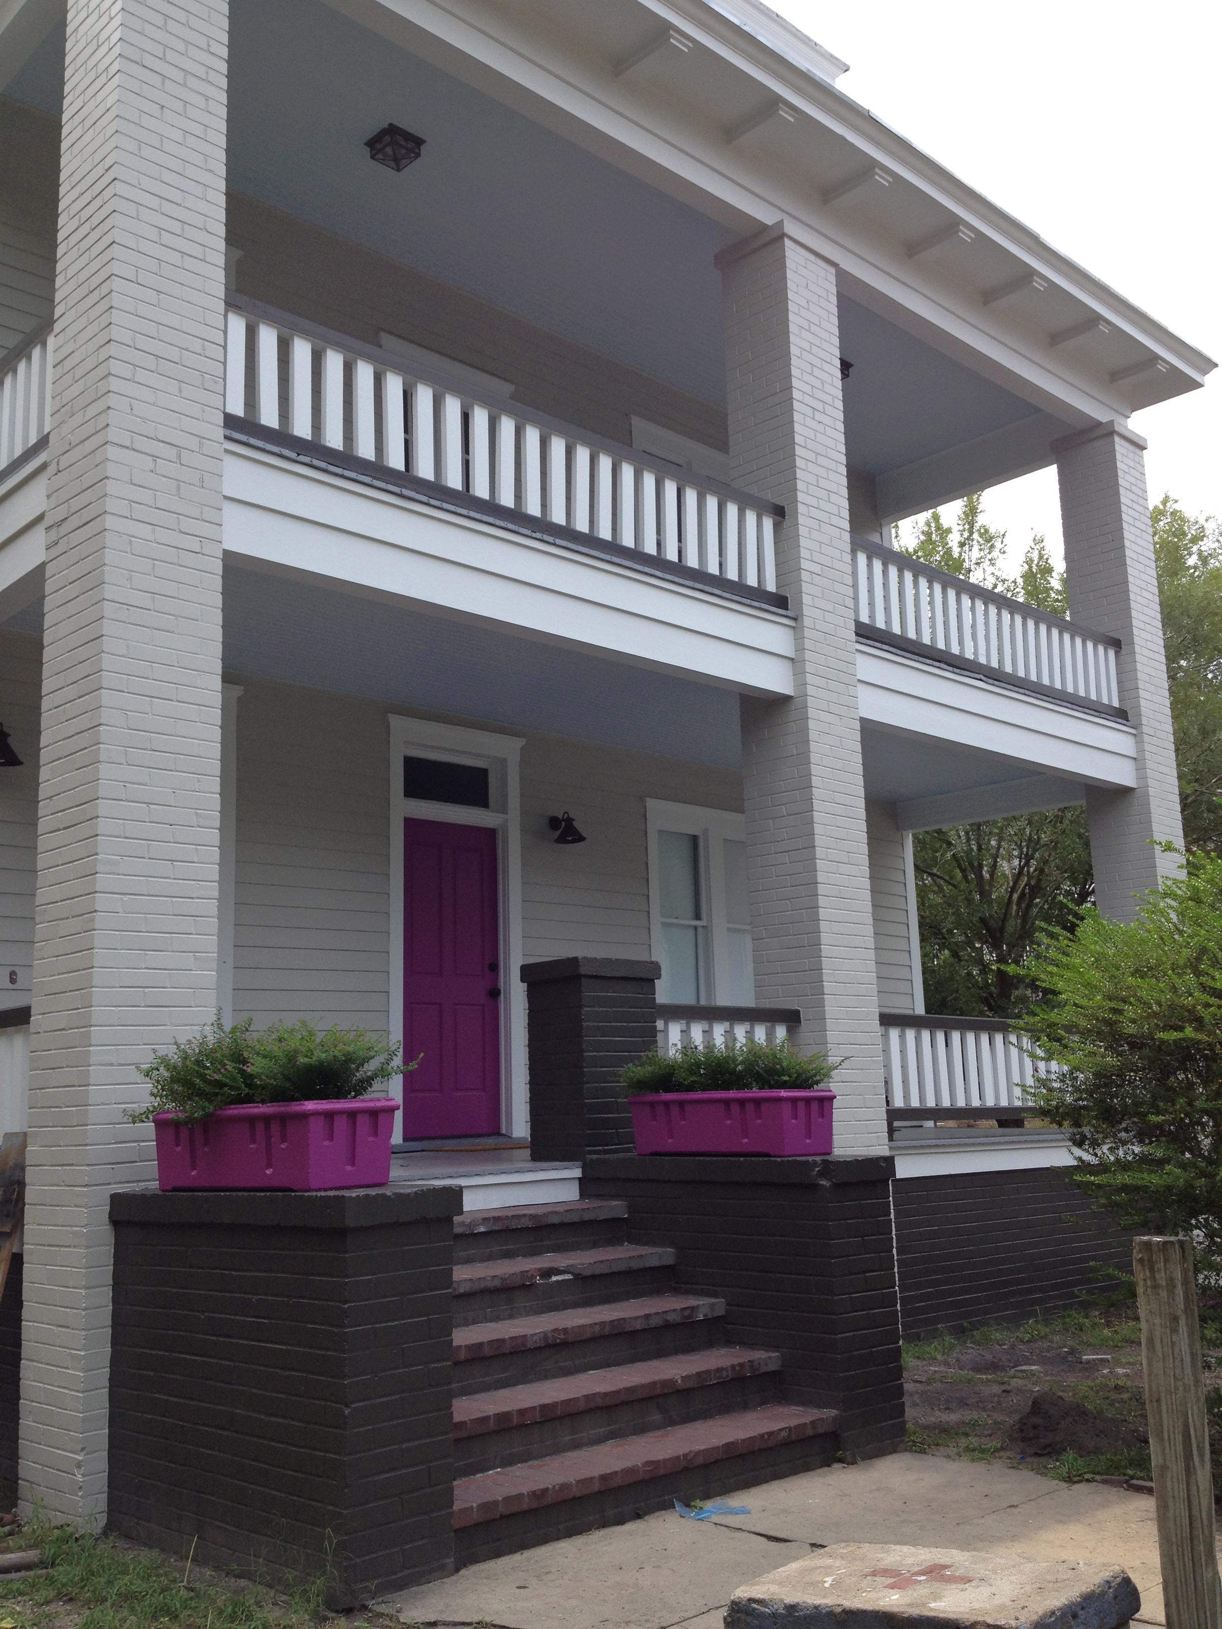
[[[1079,1181],[1124,1227],[1189,1233],[1222,1269],[1222,857],[1147,894],[1134,922],[1084,912],[1026,966],[1023,1021],[1057,1070],[1040,1113],[1072,1132]]]

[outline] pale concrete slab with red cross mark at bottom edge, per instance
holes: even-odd
[[[831,1544],[735,1590],[725,1629],[1124,1629],[1123,1567],[935,1544]]]

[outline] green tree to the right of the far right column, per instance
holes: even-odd
[[[1150,520],[1185,842],[1222,854],[1222,526],[1168,494]]]

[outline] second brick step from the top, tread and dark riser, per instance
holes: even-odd
[[[463,1262],[455,1267],[455,1324],[662,1292],[673,1266],[673,1249],[640,1245]]]

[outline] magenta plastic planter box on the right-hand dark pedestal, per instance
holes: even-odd
[[[834,1091],[640,1091],[637,1153],[831,1153]]]

